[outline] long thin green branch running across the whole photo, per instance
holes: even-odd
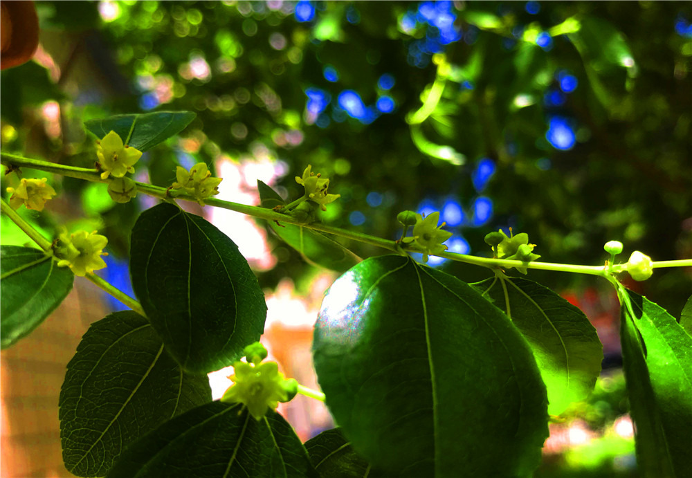
[[[86,169],[83,167],[72,167],[66,165],[57,165],[54,163],[48,163],[42,160],[35,160],[30,158],[24,158],[22,156],[15,156],[14,154],[0,154],[1,162],[6,165],[19,166],[19,167],[31,167],[34,169],[41,169],[47,172],[53,172],[56,174],[62,174],[63,176],[70,176],[73,178],[80,178],[86,181],[95,181],[99,183],[109,183],[109,179],[101,179],[100,173],[97,169]],[[147,183],[136,183],[137,189],[144,194],[149,194],[150,196],[157,197],[158,199],[163,199],[170,201],[172,198],[167,194],[167,189],[165,187],[154,186]],[[183,201],[193,201],[197,203],[197,199],[188,194],[176,195],[175,199],[182,199]],[[251,206],[239,203],[233,203],[230,201],[223,201],[221,199],[205,199],[204,203],[206,205],[214,206],[215,208],[228,209],[235,212],[240,212],[242,214],[247,214],[248,216],[257,217],[259,219],[264,219],[266,221],[276,221],[278,223],[289,223],[295,224],[297,226],[302,226],[304,228],[309,228],[313,230],[318,230],[320,232],[326,232],[327,234],[344,237],[346,239],[352,239],[354,241],[363,242],[371,244],[372,246],[377,246],[383,249],[391,250],[392,252],[425,252],[422,248],[418,247],[415,243],[408,244],[405,248],[403,245],[397,241],[391,241],[389,239],[382,239],[381,237],[375,237],[361,232],[354,232],[350,230],[345,230],[341,228],[335,228],[333,226],[326,226],[322,223],[301,223],[298,219],[295,219],[289,215],[281,214],[273,209],[260,208],[258,206]],[[9,205],[7,206],[9,208]],[[11,208],[10,208],[11,209]],[[4,211],[4,207],[3,207]],[[14,211],[12,211],[14,212]],[[15,212],[16,214],[16,212]],[[21,218],[20,218],[21,219]],[[21,226],[20,226],[21,227]],[[29,226],[30,227],[30,226]],[[522,262],[522,261],[510,261],[507,259],[491,259],[488,257],[477,257],[472,255],[457,254],[455,252],[442,252],[441,254],[431,254],[437,255],[439,257],[444,257],[446,259],[451,259],[453,261],[464,262],[466,264],[474,264],[476,266],[483,266],[488,268],[511,268],[511,267],[525,267],[529,269],[539,269],[539,270],[554,270],[556,272],[567,272],[567,273],[578,273],[578,274],[590,274],[598,275],[601,277],[607,277],[610,273],[621,273],[626,270],[625,264],[618,264],[612,266],[609,271],[605,266],[580,266],[577,264],[554,264],[550,262]],[[675,261],[658,261],[653,262],[653,267],[689,267],[692,266],[692,259],[682,259]],[[118,297],[118,300],[121,300]],[[123,301],[124,302],[124,301]]]

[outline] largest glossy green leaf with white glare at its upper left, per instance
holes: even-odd
[[[548,435],[526,340],[455,277],[401,256],[367,259],[329,288],[313,358],[354,449],[401,477],[525,476]]]

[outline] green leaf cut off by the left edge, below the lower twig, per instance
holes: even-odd
[[[39,326],[72,290],[75,276],[42,250],[0,246],[0,346]]]

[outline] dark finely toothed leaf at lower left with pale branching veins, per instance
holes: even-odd
[[[145,318],[116,312],[91,324],[60,392],[66,468],[103,476],[132,441],[210,402],[206,376],[184,374]]]

